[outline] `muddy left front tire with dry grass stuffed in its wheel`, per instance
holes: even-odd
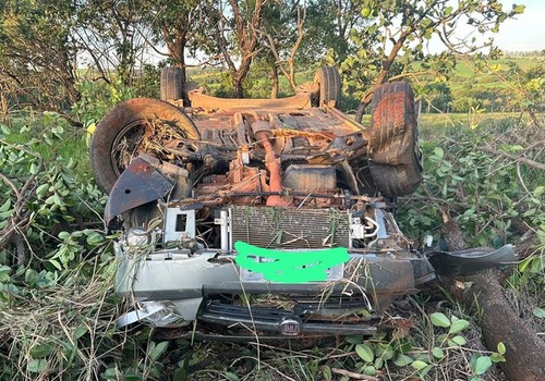
[[[154,121],[168,127],[154,130]],[[180,137],[201,138],[192,120],[170,103],[152,98],[119,103],[100,120],[90,142],[90,167],[102,190],[110,193],[130,160],[143,151],[141,143],[146,132],[152,134],[148,140],[159,146]]]

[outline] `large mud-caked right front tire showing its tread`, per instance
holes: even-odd
[[[368,168],[385,197],[413,193],[422,182],[422,151],[414,95],[405,82],[385,84],[373,94]]]

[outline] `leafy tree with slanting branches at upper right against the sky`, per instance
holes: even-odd
[[[473,34],[495,33],[504,21],[524,10],[524,5],[512,5],[506,11],[498,0],[460,0],[458,7],[448,0],[361,0],[359,3],[362,15],[372,22],[351,30],[351,42],[358,51],[341,66],[353,86],[365,88],[360,93],[358,121],[375,88],[395,75],[410,76],[414,71],[412,63],[424,60],[424,46],[434,36],[451,53],[475,53],[492,47],[493,39],[460,38],[456,30],[461,25],[469,25]],[[446,57],[453,60],[453,54]]]

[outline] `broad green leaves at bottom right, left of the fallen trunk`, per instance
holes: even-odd
[[[458,379],[467,373],[483,376],[493,364],[505,360],[502,344],[498,345],[497,353],[477,349],[470,355],[474,327],[453,314],[432,312],[428,319],[413,321],[411,335],[407,332],[407,320],[398,318],[397,324],[390,333],[380,331],[372,337],[346,337],[341,348],[349,357],[342,362],[331,359],[320,365],[318,369],[324,378],[331,380],[331,373],[341,367],[367,378],[387,372],[390,379]],[[449,368],[449,361],[465,353],[472,357],[467,369],[460,365]]]

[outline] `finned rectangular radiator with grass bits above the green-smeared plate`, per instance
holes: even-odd
[[[264,248],[348,247],[348,211],[233,206],[232,243],[242,241]]]

